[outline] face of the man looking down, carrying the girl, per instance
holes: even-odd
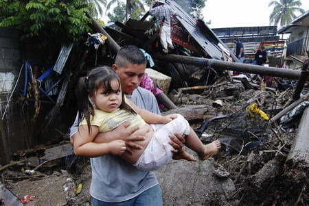
[[[144,77],[146,66],[144,64],[128,64],[125,67],[118,67],[113,64],[113,70],[122,79],[122,89],[124,94],[132,94],[132,92],[139,86]]]

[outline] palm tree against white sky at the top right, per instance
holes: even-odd
[[[299,8],[302,3],[300,0],[280,0],[271,1],[268,6],[275,5],[273,8],[273,12],[269,16],[270,24],[279,25],[282,27],[283,25],[288,25],[293,19],[297,16],[294,14],[295,12],[301,12],[304,14],[305,10]]]

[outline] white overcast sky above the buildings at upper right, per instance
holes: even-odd
[[[211,20],[211,29],[269,26],[269,15],[273,11],[273,6],[268,7],[269,2],[271,0],[207,0],[203,9],[204,21]],[[301,0],[301,3],[301,8],[307,12],[309,1]]]

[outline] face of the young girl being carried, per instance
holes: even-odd
[[[90,96],[95,103],[95,109],[105,112],[114,112],[122,103],[122,90],[117,79],[111,81],[111,88],[115,92],[106,92],[103,88],[99,88]]]

